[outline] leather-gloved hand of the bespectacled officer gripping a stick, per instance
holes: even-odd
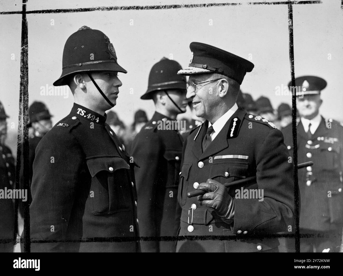
[[[200,206],[213,207],[226,223],[233,222],[235,214],[234,200],[223,184],[213,179],[207,179],[206,182],[199,184],[197,190],[206,191],[206,194],[197,198]]]

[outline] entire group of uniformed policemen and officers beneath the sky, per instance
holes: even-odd
[[[58,240],[31,243],[32,252],[294,251],[294,239],[281,246],[269,237],[295,233],[291,107],[275,111],[267,97],[239,89],[254,67],[248,60],[198,42],[190,49],[185,69],[166,58],[152,67],[141,99],[152,100],[155,113],[148,120],[138,110],[126,128],[105,113],[117,104],[117,72],[127,73],[113,44],[86,26],[68,38],[54,85],[73,92],[70,114],[52,127],[44,103],[29,107],[31,239]],[[301,252],[339,252],[342,242],[343,126],[320,114],[326,85],[296,78],[298,163],[314,162],[298,171]],[[191,117],[182,117],[187,108]],[[7,117],[0,103],[1,189],[14,188]],[[177,118],[186,129],[159,127]],[[264,198],[237,197],[235,188]],[[202,193],[187,195],[194,191]],[[0,249],[11,252],[13,201],[0,206]],[[201,238],[209,235],[227,239]]]

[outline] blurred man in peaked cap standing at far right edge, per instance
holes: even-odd
[[[297,124],[298,163],[313,161],[298,172],[300,190],[300,252],[338,252],[343,225],[343,125],[320,114],[321,90],[327,82],[317,76],[289,82],[296,93],[300,121]],[[293,156],[292,125],[282,130]]]

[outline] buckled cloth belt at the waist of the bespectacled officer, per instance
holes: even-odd
[[[189,224],[207,225],[211,222],[214,223],[218,219],[220,218],[214,213],[213,209],[206,207],[198,207],[197,209],[182,208],[181,221]]]

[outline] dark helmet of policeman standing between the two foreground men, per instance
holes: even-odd
[[[141,99],[152,99],[153,92],[158,90],[181,89],[186,91],[186,77],[177,75],[177,71],[181,69],[181,65],[175,60],[162,58],[151,68],[148,89]]]

